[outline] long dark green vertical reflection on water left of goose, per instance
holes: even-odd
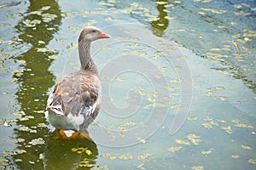
[[[47,14],[55,14],[51,20],[45,20]],[[48,88],[54,85],[54,75],[48,71],[54,54],[49,50],[39,52],[38,49],[46,49],[55,32],[61,24],[61,10],[55,1],[30,1],[30,5],[15,28],[20,34],[19,39],[31,48],[17,59],[23,60],[24,72],[22,77],[15,74],[16,82],[20,88],[16,93],[20,103],[20,116],[32,119],[31,121],[19,121],[15,129],[17,139],[24,140],[18,146],[26,154],[15,156],[17,166],[20,169],[32,169],[42,167],[38,161],[39,154],[44,152],[44,147],[31,144],[33,139],[45,140],[48,129],[44,127],[44,115],[38,111],[44,111],[44,103],[47,98]],[[42,36],[44,35],[44,36]],[[39,127],[38,127],[39,126]]]

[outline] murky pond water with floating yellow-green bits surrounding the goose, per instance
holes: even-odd
[[[255,1],[0,3],[0,169],[255,169]],[[44,108],[94,25],[102,110],[60,139]],[[172,135],[171,135],[172,134]]]

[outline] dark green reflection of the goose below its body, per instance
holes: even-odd
[[[49,135],[45,152],[40,155],[44,169],[71,170],[95,167],[98,150],[92,139],[79,135],[67,138],[56,134],[60,135],[57,130]]]

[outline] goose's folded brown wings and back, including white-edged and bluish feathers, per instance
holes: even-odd
[[[56,83],[49,95],[47,109],[63,116],[91,115],[100,103],[99,87],[95,75],[79,71],[69,74]]]

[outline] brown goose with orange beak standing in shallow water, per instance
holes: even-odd
[[[62,77],[49,94],[45,116],[56,129],[64,130],[67,137],[73,131],[82,133],[96,118],[101,100],[100,81],[93,59],[90,42],[108,35],[94,26],[85,27],[79,36],[79,71]]]

